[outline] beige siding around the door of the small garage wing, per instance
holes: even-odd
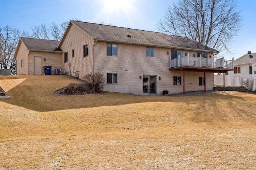
[[[52,66],[51,74],[54,75],[54,69],[61,68],[61,55],[62,53],[48,53],[48,52],[38,52],[30,51],[29,54],[29,74],[34,74],[34,57],[41,57],[42,59],[42,74],[44,74],[44,66]],[[46,61],[44,61],[46,59]]]

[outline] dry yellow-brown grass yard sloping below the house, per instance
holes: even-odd
[[[53,96],[63,76],[0,76],[0,170],[254,169],[256,95]]]

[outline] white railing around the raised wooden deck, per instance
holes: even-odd
[[[176,59],[171,59],[170,57],[170,68],[182,67],[182,66],[199,66],[199,67],[214,67],[214,68],[234,68],[234,58],[233,60],[213,59],[200,57],[180,57]]]

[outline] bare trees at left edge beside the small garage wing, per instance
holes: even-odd
[[[28,36],[27,32],[23,31],[23,33]],[[10,69],[12,74],[16,73],[16,60],[13,57],[19,38],[23,33],[8,25],[0,27],[0,68]]]

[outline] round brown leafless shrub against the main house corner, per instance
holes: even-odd
[[[105,86],[105,77],[102,72],[88,73],[82,78],[84,84],[87,84],[92,93],[102,92]]]

